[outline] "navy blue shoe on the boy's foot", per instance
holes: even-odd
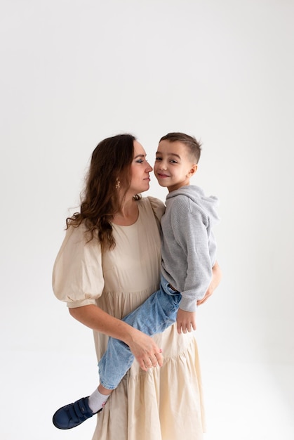
[[[98,411],[100,411],[102,408]],[[62,406],[53,415],[53,425],[59,429],[71,429],[81,425],[85,420],[91,418],[94,414],[88,405],[88,397],[82,397],[74,403]]]

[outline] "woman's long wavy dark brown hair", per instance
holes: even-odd
[[[98,143],[81,193],[81,212],[75,212],[66,220],[67,228],[83,223],[86,233],[90,234],[88,241],[95,235],[102,250],[115,246],[111,221],[121,207],[117,183],[119,181],[126,194],[131,185],[134,141],[135,136],[131,134],[119,134]]]

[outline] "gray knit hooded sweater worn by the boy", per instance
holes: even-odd
[[[219,218],[218,199],[198,186],[182,186],[166,197],[161,218],[161,272],[181,292],[180,309],[196,310],[211,282],[216,243],[212,228]]]

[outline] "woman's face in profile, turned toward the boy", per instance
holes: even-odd
[[[149,189],[149,173],[152,167],[146,160],[146,153],[138,141],[134,141],[134,158],[131,164],[131,186],[128,193],[131,195],[143,193]]]

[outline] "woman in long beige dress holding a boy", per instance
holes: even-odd
[[[140,198],[152,167],[131,135],[93,151],[81,214],[67,234],[53,271],[53,290],[69,313],[94,331],[98,360],[108,336],[123,340],[134,362],[98,414],[93,440],[202,439],[203,405],[196,341],[173,325],[151,338],[121,321],[159,287],[159,220],[164,205]],[[208,292],[209,296],[211,292]],[[160,347],[160,348],[159,348]]]

